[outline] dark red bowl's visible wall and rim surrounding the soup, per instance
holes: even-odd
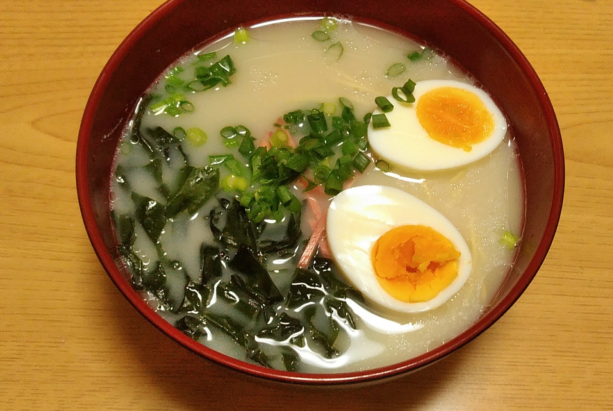
[[[379,369],[346,374],[299,374],[251,365],[219,354],[163,320],[132,289],[120,270],[109,213],[115,147],[139,96],[175,59],[221,32],[249,21],[310,13],[376,21],[438,48],[459,62],[493,95],[508,117],[524,163],[526,216],[517,261],[489,310],[457,338],[424,355]],[[77,190],[89,239],[110,278],[140,313],[170,338],[213,361],[252,376],[283,382],[366,382],[412,371],[438,360],[493,324],[525,290],[543,262],[562,209],[562,138],[543,84],[516,45],[462,0],[169,1],[128,35],[102,70],[83,114],[77,144]]]

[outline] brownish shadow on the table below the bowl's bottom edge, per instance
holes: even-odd
[[[101,276],[104,275],[101,273]],[[408,406],[427,404],[437,394],[457,379],[465,350],[459,350],[435,364],[406,376],[377,383],[376,385],[340,386],[334,389],[334,401],[330,401],[331,388],[305,387],[277,383],[246,376],[217,365],[179,346],[153,327],[129,305],[108,279],[105,295],[113,295],[108,301],[110,312],[116,320],[117,331],[124,338],[125,349],[132,351],[143,367],[143,374],[150,384],[172,402],[181,402],[184,410],[243,409],[269,410],[276,405],[283,410],[371,409],[381,404],[386,409],[405,410]],[[339,388],[333,387],[333,388]]]

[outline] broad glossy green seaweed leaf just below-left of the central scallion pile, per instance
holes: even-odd
[[[195,213],[219,188],[219,169],[205,166],[194,168],[183,186],[164,210],[166,218],[173,218],[183,210]]]

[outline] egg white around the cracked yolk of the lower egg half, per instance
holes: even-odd
[[[417,313],[442,305],[470,275],[470,250],[458,229],[436,209],[397,188],[362,185],[341,191],[330,203],[326,224],[330,250],[349,282],[371,302],[399,313]],[[381,287],[370,253],[376,240],[390,229],[417,224],[440,232],[460,251],[458,276],[431,300],[406,303]]]

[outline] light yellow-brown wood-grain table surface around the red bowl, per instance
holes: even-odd
[[[424,371],[333,394],[182,349],[89,244],[74,177],[83,108],[160,1],[0,1],[0,410],[613,410],[613,1],[473,1],[524,51],[557,113],[557,235],[484,335]]]

